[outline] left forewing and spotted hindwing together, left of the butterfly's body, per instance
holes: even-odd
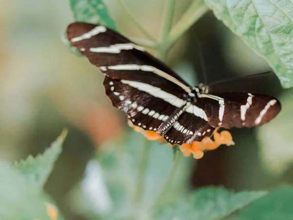
[[[122,35],[102,25],[77,22],[68,26],[67,36],[105,74],[107,96],[134,125],[157,131],[186,104],[190,86]]]

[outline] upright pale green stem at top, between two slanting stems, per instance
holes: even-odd
[[[158,57],[163,61],[166,60],[167,52],[170,49],[170,45],[168,44],[168,36],[172,27],[174,8],[175,0],[166,0],[161,27],[160,43],[158,44]]]

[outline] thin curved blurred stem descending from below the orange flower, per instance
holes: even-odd
[[[180,158],[181,158],[181,153],[180,153],[179,150],[177,150],[177,152],[175,154],[174,163],[173,163],[172,169],[171,169],[171,171],[170,171],[170,173],[169,173],[169,175],[167,177],[167,180],[166,180],[164,186],[161,188],[161,190],[158,193],[158,195],[156,196],[156,198],[154,199],[154,202],[152,203],[150,208],[154,207],[156,204],[158,204],[162,200],[162,198],[165,197],[165,195],[168,192],[170,186],[172,185],[172,181],[173,181],[173,178],[174,178],[174,176],[176,174]]]

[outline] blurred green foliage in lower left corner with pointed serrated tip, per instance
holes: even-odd
[[[29,156],[15,166],[0,162],[0,217],[23,220],[57,220],[57,210],[42,191],[61,152],[67,131],[44,154]],[[61,219],[59,217],[58,219]]]

